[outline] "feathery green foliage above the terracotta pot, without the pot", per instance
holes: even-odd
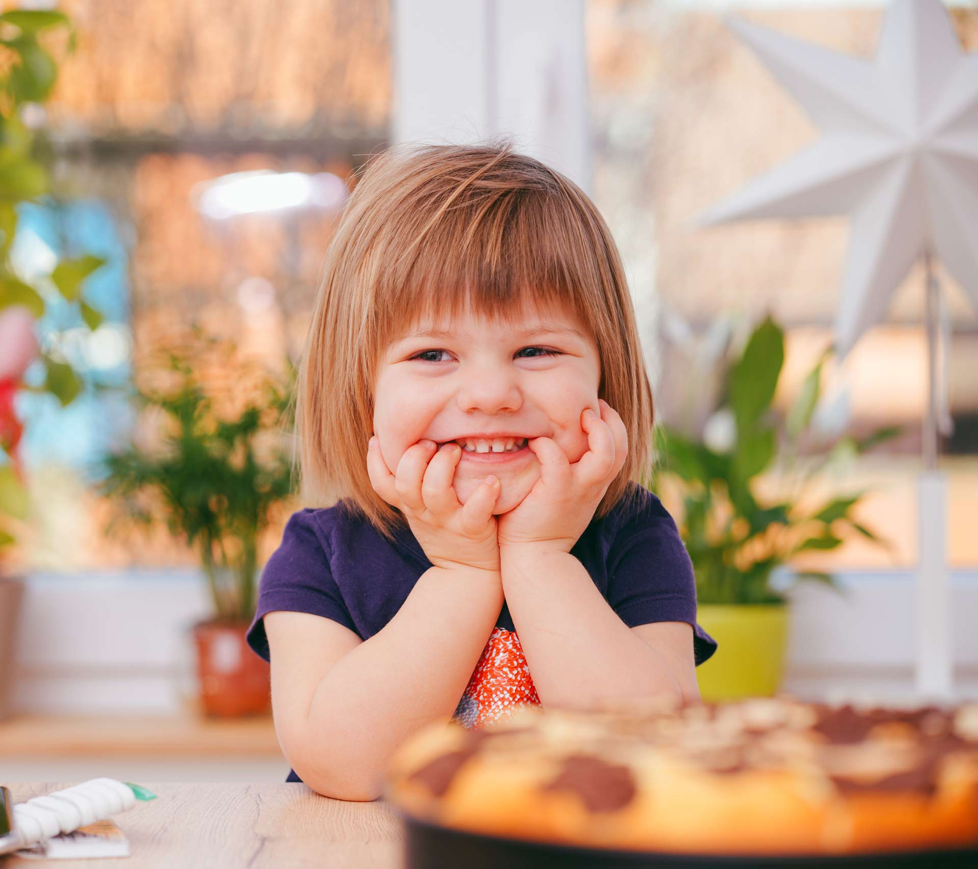
[[[217,343],[197,326],[194,334],[201,344]],[[226,365],[237,375],[236,348],[222,346],[228,348]],[[135,404],[161,417],[158,444],[133,442],[107,456],[100,489],[120,500],[123,524],[145,528],[163,521],[197,552],[218,620],[250,621],[257,543],[273,508],[293,491],[291,457],[282,442],[294,427],[296,369],[289,360],[285,381],[263,371],[250,389],[243,387],[250,394],[235,413],[222,416],[192,354],[170,350],[164,357],[173,385],[134,388]],[[119,527],[114,519],[107,533]]]

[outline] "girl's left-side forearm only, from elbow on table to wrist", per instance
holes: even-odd
[[[306,722],[306,773],[345,799],[377,799],[397,746],[455,712],[502,607],[499,574],[422,574],[383,630],[320,682]]]

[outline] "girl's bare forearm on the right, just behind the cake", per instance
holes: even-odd
[[[608,606],[577,558],[534,548],[500,556],[513,627],[545,708],[682,696],[665,661]]]

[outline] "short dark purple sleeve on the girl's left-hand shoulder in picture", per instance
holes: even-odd
[[[258,605],[246,638],[248,645],[266,661],[270,655],[262,620],[276,610],[312,613],[357,632],[333,579],[329,543],[317,527],[316,512],[306,507],[292,513],[282,533],[282,543],[261,573]]]

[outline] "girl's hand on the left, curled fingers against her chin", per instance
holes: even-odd
[[[501,487],[493,477],[483,482],[465,504],[452,488],[455,467],[462,457],[458,444],[443,444],[435,451],[432,441],[409,447],[390,472],[376,437],[367,449],[367,472],[374,491],[397,507],[435,567],[474,567],[499,572],[497,521],[493,515]]]

